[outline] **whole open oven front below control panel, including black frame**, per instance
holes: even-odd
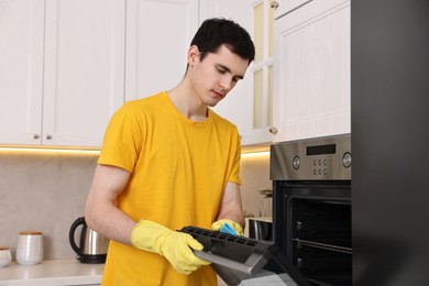
[[[274,186],[274,240],[282,253],[316,285],[351,285],[351,182]]]

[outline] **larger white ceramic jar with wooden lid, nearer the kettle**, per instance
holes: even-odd
[[[21,265],[37,264],[43,260],[43,233],[21,231],[16,242],[16,262]]]

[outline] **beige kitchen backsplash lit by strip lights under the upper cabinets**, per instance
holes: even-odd
[[[72,223],[84,216],[98,154],[0,150],[0,245],[13,258],[18,232],[44,233],[44,258],[76,256],[68,242]],[[257,216],[261,195],[271,188],[270,156],[243,155],[242,197],[246,213]]]

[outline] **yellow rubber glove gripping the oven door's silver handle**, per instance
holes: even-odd
[[[141,220],[131,233],[131,243],[140,250],[156,252],[167,258],[183,274],[190,274],[210,263],[194,255],[191,249],[204,246],[190,234],[173,231],[156,222]]]

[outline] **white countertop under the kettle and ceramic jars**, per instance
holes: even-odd
[[[77,260],[43,261],[36,265],[0,268],[0,286],[59,286],[100,284],[105,264],[85,264]]]

